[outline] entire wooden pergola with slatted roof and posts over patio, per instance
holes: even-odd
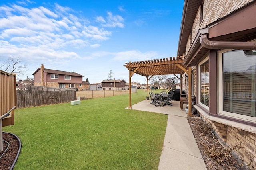
[[[141,76],[145,76],[147,78],[147,85],[148,80],[152,78],[152,76],[156,75],[168,75],[173,74],[176,76],[176,74],[180,74],[180,77],[176,76],[178,79],[180,79],[181,83],[181,90],[180,93],[182,93],[182,79],[181,76],[185,72],[188,74],[188,82],[191,84],[191,67],[185,68],[182,64],[184,61],[185,56],[177,56],[177,57],[170,57],[170,58],[163,58],[163,59],[154,59],[154,60],[145,60],[145,61],[135,61],[135,62],[129,62],[125,63],[124,65],[129,70],[129,82],[131,81],[132,76],[136,73]],[[129,89],[131,89],[131,83],[129,83]],[[148,94],[148,88],[147,88],[147,94]],[[191,87],[189,86],[188,90],[188,97],[191,99]],[[129,90],[129,109],[131,109],[131,90]],[[188,116],[191,116],[191,102],[189,102],[188,106]]]

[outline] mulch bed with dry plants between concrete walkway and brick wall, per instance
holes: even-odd
[[[239,150],[240,145],[225,149],[219,143],[214,129],[209,124],[199,117],[188,118],[188,122],[208,170],[250,170],[251,167],[244,166],[241,160],[236,160],[231,154]]]

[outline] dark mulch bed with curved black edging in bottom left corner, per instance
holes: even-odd
[[[3,152],[7,149],[7,147],[8,149],[0,158],[0,170],[10,170],[18,154],[20,144],[18,139],[14,135],[4,132],[3,141],[7,141],[10,146],[8,147],[8,144],[6,142],[3,142],[3,151],[0,152],[0,156],[2,156]]]

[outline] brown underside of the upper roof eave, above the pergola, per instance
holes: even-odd
[[[192,32],[192,26],[196,17],[197,10],[202,2],[203,0],[184,1],[177,56],[183,55],[183,52],[186,49],[186,43],[190,33]]]

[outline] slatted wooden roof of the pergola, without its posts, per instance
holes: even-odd
[[[124,65],[128,70],[135,71],[141,76],[155,76],[168,74],[183,74],[186,71],[184,56],[170,57],[163,59],[152,59],[145,61],[129,62]],[[137,70],[136,70],[137,69]]]

